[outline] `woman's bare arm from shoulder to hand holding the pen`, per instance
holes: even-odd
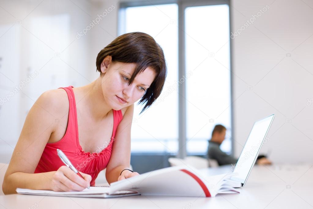
[[[4,176],[2,185],[4,194],[16,193],[16,188],[64,191],[68,187],[82,190],[88,186],[90,176],[84,175],[87,181],[90,179],[87,182],[76,174],[72,175],[74,172],[63,166],[58,171],[34,174],[50,135],[56,128],[55,119],[63,113],[59,108],[59,92],[57,90],[44,92],[28,112]],[[59,182],[61,179],[64,183]],[[74,182],[79,182],[83,186]],[[59,188],[55,188],[55,185]]]

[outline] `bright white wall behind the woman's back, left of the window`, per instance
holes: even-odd
[[[90,24],[93,5],[59,0],[2,1],[0,6],[0,99],[10,99],[0,103],[0,162],[7,163],[40,94],[91,82],[91,39],[77,39],[76,32]]]

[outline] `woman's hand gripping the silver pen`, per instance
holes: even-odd
[[[90,186],[91,176],[80,172],[82,179],[69,167],[63,165],[52,174],[51,190],[53,191],[82,191]]]

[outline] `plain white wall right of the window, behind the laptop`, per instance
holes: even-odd
[[[274,162],[312,162],[313,2],[232,1],[232,32],[266,5],[233,39],[234,153],[255,120],[275,113],[262,152]]]

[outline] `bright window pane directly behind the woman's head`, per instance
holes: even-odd
[[[121,9],[124,29],[119,35],[140,31],[151,35],[162,47],[167,60],[167,79],[161,96],[141,115],[135,104],[131,129],[132,152],[177,152],[178,77],[177,4],[128,7]],[[157,17],[157,18],[156,18]]]

